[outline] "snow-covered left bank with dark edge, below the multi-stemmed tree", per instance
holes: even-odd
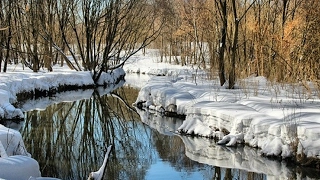
[[[119,78],[123,78],[123,69],[117,69],[110,73],[103,73],[98,85],[113,84]],[[12,104],[17,103],[18,94],[31,94],[37,96],[37,92],[44,95],[58,91],[61,87],[94,87],[96,86],[88,71],[75,72],[71,70],[58,70],[56,72],[7,72],[0,76],[0,119],[23,119],[21,109]],[[67,89],[67,88],[65,88]],[[32,98],[32,97],[31,97]]]

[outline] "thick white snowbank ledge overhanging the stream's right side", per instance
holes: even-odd
[[[230,132],[229,139],[220,143],[227,146],[245,142],[260,148],[266,156],[282,158],[320,156],[319,99],[301,103],[301,99],[282,96],[272,100],[266,91],[245,97],[241,89],[212,90],[208,82],[195,85],[182,78],[171,78],[152,78],[141,89],[136,104],[143,102],[145,108],[156,111],[172,111],[168,108],[176,106],[176,113],[186,115],[178,131],[221,139],[225,129]],[[249,80],[267,82],[263,77]]]

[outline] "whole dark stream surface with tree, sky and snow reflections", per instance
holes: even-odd
[[[209,139],[179,136],[174,131],[182,120],[130,108],[138,92],[130,86],[106,95],[86,92],[85,99],[26,112],[20,132],[27,150],[39,162],[42,176],[87,179],[101,166],[110,144],[113,148],[104,179],[308,176],[281,162],[261,158],[255,149],[226,148]]]

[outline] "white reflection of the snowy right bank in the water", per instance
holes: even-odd
[[[177,135],[175,131],[182,125],[182,120],[178,121],[173,117],[161,116],[157,112],[151,113],[140,109],[138,112],[143,123],[161,134]],[[183,141],[185,154],[188,158],[214,167],[264,174],[268,180],[313,179],[312,177],[318,174],[316,169],[290,166],[290,163],[262,157],[259,149],[249,146],[226,147],[217,145],[214,140],[209,138],[178,136]],[[247,178],[243,177],[242,179]]]

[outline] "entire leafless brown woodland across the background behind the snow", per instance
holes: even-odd
[[[319,86],[318,0],[3,0],[0,9],[2,72],[67,63],[97,79],[148,47],[229,88],[250,75]]]

